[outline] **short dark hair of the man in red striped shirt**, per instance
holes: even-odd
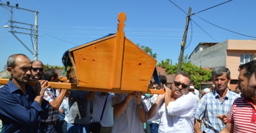
[[[256,70],[256,64],[254,63],[254,60],[247,62],[245,64],[239,65],[238,71],[240,72],[243,69],[245,69],[244,76],[247,77],[248,82],[249,82],[249,79],[251,79],[251,75]]]

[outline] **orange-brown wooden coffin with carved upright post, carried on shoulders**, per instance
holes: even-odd
[[[77,86],[109,92],[147,91],[157,61],[125,37],[125,20],[125,13],[121,12],[118,14],[116,34],[109,34],[64,53],[67,77]]]

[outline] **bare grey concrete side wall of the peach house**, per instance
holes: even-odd
[[[226,67],[226,50],[227,50],[227,41],[218,43],[212,47],[208,47],[203,51],[194,53],[190,56],[190,61],[192,64],[197,66],[206,67],[217,67],[225,66]]]

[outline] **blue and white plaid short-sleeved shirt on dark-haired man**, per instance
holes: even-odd
[[[240,95],[229,90],[223,97],[223,101],[220,100],[220,95],[216,91],[204,95],[199,102],[195,115],[196,119],[202,120],[204,111],[206,111],[206,126],[204,126],[203,131],[206,133],[218,133],[223,130],[225,125],[217,118],[217,115],[229,113],[231,105],[237,97],[240,97]]]

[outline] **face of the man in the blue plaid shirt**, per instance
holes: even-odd
[[[215,85],[216,90],[218,91],[224,91],[228,87],[228,83],[231,80],[231,78],[227,78],[227,74],[224,72],[221,76],[215,76],[213,77],[213,83]]]

